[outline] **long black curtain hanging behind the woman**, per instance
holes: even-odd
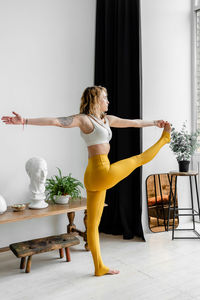
[[[97,0],[95,85],[108,90],[109,111],[121,118],[140,119],[141,56],[139,0]],[[110,162],[141,153],[138,128],[112,128]],[[141,224],[141,168],[107,191],[99,231],[144,240]]]

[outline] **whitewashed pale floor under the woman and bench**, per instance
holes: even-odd
[[[69,263],[58,259],[57,251],[35,255],[29,274],[18,268],[12,252],[4,252],[1,299],[200,299],[200,240],[172,241],[171,232],[146,234],[146,242],[105,234],[100,239],[104,263],[119,268],[119,275],[93,276],[82,241],[71,247]]]

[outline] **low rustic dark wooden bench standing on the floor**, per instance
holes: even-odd
[[[31,270],[32,255],[59,250],[60,258],[63,258],[65,249],[66,261],[69,262],[71,261],[69,247],[78,244],[80,244],[80,241],[77,237],[71,234],[60,234],[14,243],[9,245],[9,247],[18,258],[21,258],[20,269],[25,268],[26,257],[28,256],[25,272],[29,273]]]

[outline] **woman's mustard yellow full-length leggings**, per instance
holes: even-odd
[[[109,270],[103,264],[101,258],[98,231],[106,190],[127,177],[136,168],[152,160],[161,147],[169,143],[169,141],[170,133],[163,131],[157,143],[145,152],[111,165],[106,154],[99,154],[89,158],[84,175],[84,184],[87,189],[87,240],[93,256],[96,276],[104,275]]]

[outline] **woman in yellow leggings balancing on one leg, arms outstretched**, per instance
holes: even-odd
[[[107,91],[104,87],[88,87],[83,92],[80,114],[59,118],[24,119],[13,112],[14,116],[4,116],[6,124],[29,124],[41,126],[60,126],[65,128],[79,127],[82,138],[88,147],[88,166],[84,175],[87,190],[87,240],[91,250],[95,275],[118,274],[103,264],[99,245],[99,223],[103,212],[106,190],[127,177],[136,168],[152,160],[166,143],[170,142],[171,127],[163,120],[143,121],[122,119],[106,115],[108,110]],[[108,153],[112,137],[110,127],[147,127],[164,128],[160,139],[145,152],[110,165]]]

